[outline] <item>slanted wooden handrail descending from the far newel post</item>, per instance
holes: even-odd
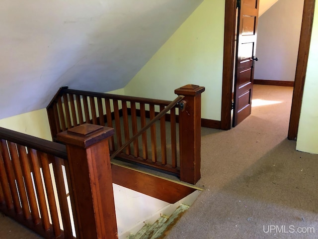
[[[153,125],[158,119],[160,119],[162,116],[164,116],[169,110],[171,110],[177,103],[179,103],[184,96],[178,96],[175,98],[174,101],[172,101],[166,108],[164,108],[154,119],[152,119],[149,123],[146,124],[145,127],[140,129],[134,136],[132,136],[126,143],[124,143],[118,150],[116,150],[111,156],[110,159],[113,159],[116,157],[118,153],[123,151],[130,143],[132,143],[138,136],[140,136],[143,132],[145,132],[151,125]]]

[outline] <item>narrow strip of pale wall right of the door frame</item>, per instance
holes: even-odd
[[[297,150],[318,154],[318,2],[306,73],[302,110],[297,136]]]

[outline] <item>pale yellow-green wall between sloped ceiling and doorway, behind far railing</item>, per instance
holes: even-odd
[[[204,0],[149,62],[124,93],[173,100],[187,84],[206,87],[202,118],[221,120],[225,0]]]

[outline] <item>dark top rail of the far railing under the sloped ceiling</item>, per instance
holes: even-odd
[[[161,105],[161,106],[167,106],[171,103],[171,101],[158,100],[158,99],[133,97],[133,96],[122,96],[122,95],[98,93],[98,92],[91,92],[91,91],[72,90],[72,89],[68,89],[67,87],[60,88],[60,90],[58,91],[56,96],[63,95],[65,93],[82,95],[82,96],[101,97],[101,98],[108,98],[108,99],[121,100],[121,101],[132,101],[132,102],[139,102],[139,103],[145,103],[145,104],[155,104],[155,105]],[[52,102],[54,102],[54,101],[52,101]],[[50,105],[52,104],[52,102],[50,103]]]

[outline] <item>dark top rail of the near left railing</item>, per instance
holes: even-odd
[[[0,138],[67,159],[66,146],[42,138],[0,127]]]

